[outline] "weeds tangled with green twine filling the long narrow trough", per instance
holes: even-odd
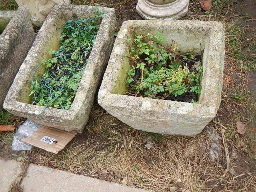
[[[99,25],[98,19],[82,18],[68,20],[62,28],[60,47],[50,50],[52,58],[42,62],[34,71],[30,95],[32,104],[68,110],[88,62]],[[45,65],[44,74],[38,69]],[[36,74],[38,74],[36,76]]]

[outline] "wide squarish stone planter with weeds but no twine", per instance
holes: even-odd
[[[202,93],[199,104],[125,95],[134,34],[161,32],[181,52],[203,54]],[[160,134],[194,136],[215,117],[220,106],[224,67],[224,29],[212,21],[130,20],[122,24],[98,94],[98,103],[132,128]]]

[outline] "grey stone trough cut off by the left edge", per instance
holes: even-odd
[[[23,7],[18,8],[15,14],[6,11],[2,14],[6,14],[4,22],[8,22],[11,17],[12,19],[0,34],[0,110],[14,77],[35,39],[30,17]],[[0,21],[2,17],[0,16]]]

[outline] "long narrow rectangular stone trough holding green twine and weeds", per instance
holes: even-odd
[[[48,51],[51,48],[58,49],[58,39],[64,23],[69,19],[94,16],[94,6],[58,5],[52,8],[6,96],[4,102],[6,110],[45,126],[66,131],[82,132],[88,121],[102,71],[108,62],[114,35],[114,9],[98,7],[98,10],[104,11],[106,14],[102,18],[88,64],[70,109],[61,110],[49,107],[44,110],[44,106],[30,104],[31,97],[28,96],[30,94],[30,85],[35,68],[41,62],[51,58]],[[39,70],[44,72],[44,66]]]

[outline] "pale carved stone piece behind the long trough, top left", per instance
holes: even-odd
[[[30,12],[32,23],[42,26],[52,7],[56,4],[70,4],[70,0],[16,0],[19,6],[25,6]]]

